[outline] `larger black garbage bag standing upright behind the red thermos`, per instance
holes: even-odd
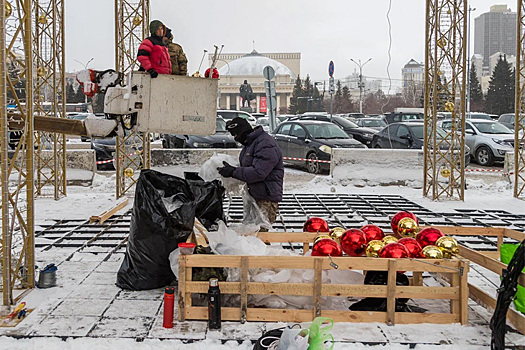
[[[141,171],[117,286],[145,290],[172,282],[175,276],[168,257],[191,234],[196,208],[186,180],[154,170]]]

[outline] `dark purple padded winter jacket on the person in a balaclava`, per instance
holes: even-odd
[[[233,177],[248,184],[248,191],[256,200],[280,202],[283,199],[284,165],[281,149],[261,126],[246,138],[246,146],[239,155],[240,166]]]

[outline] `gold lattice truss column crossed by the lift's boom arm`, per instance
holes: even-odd
[[[35,113],[65,118],[64,1],[33,0]],[[36,195],[66,195],[66,135],[35,132]]]

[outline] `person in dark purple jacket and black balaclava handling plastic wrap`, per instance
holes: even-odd
[[[261,126],[254,129],[246,119],[233,118],[226,123],[226,129],[235,141],[244,146],[239,155],[240,166],[236,168],[223,162],[224,167],[217,170],[224,177],[246,182],[262,214],[273,224],[279,202],[283,199],[284,165],[281,149]]]

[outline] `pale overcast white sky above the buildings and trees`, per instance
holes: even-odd
[[[94,58],[90,68],[114,68],[114,1],[66,1],[66,65],[76,71]],[[390,74],[401,78],[410,60],[423,62],[425,54],[424,0],[392,0],[392,63]],[[224,45],[223,53],[300,52],[301,76],[328,77],[334,61],[337,78],[351,74],[363,62],[368,77],[387,77],[388,0],[150,0],[151,19],[173,29],[175,41],[186,52],[188,71],[197,70],[203,50]],[[472,0],[474,18],[494,4],[516,11],[516,0]],[[473,40],[471,41],[473,53]],[[76,62],[80,61],[82,64]],[[201,69],[203,71],[204,69]]]

